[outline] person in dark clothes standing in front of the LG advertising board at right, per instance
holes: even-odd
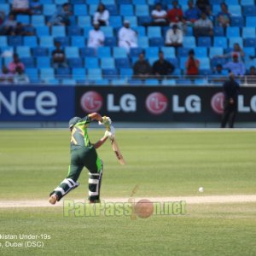
[[[235,75],[230,73],[230,79],[223,84],[224,89],[224,113],[221,120],[221,128],[225,128],[229,122],[229,127],[234,127],[237,112],[238,92],[240,85],[236,83]]]

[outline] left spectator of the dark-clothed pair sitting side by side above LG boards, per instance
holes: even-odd
[[[151,74],[151,66],[147,60],[145,60],[144,53],[139,55],[138,61],[133,65],[133,77],[134,79],[148,79]]]

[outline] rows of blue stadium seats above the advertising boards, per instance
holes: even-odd
[[[8,17],[11,10],[11,2],[0,2],[0,11]],[[8,52],[17,52],[21,61],[26,66],[26,73],[31,81],[48,82],[50,84],[81,84],[89,81],[91,84],[144,84],[144,85],[174,85],[182,82],[191,84],[189,79],[184,79],[184,63],[189,49],[195,50],[195,56],[201,62],[201,79],[194,79],[196,85],[207,84],[211,79],[207,77],[217,64],[224,64],[224,59],[216,58],[224,55],[233,48],[235,43],[244,49],[243,61],[247,69],[255,63],[256,48],[256,6],[254,0],[211,0],[212,15],[210,19],[215,25],[212,37],[195,38],[193,28],[187,27],[183,37],[183,47],[165,47],[166,30],[168,27],[145,26],[150,24],[150,13],[154,9],[152,0],[103,0],[102,3],[110,13],[109,26],[102,26],[105,34],[105,44],[98,49],[90,49],[87,46],[88,32],[92,28],[93,15],[96,11],[97,0],[72,0],[73,15],[70,16],[69,26],[47,26],[47,22],[55,11],[66,3],[65,0],[41,1],[43,3],[42,14],[17,15],[16,20],[26,26],[35,28],[35,34],[0,35],[1,67],[9,63]],[[183,12],[188,8],[187,0],[179,0]],[[217,15],[220,11],[220,3],[229,5],[231,14],[230,26],[226,29],[218,26]],[[170,9],[172,5],[168,6]],[[129,20],[131,28],[137,32],[138,48],[131,49],[127,54],[125,49],[118,47],[118,31],[123,26],[123,21]],[[2,25],[3,26],[3,25]],[[67,57],[68,68],[55,70],[51,66],[51,52],[54,43],[61,42],[61,46]],[[132,64],[137,61],[138,55],[144,51],[148,61],[153,64],[158,59],[159,50],[163,50],[168,61],[176,67],[172,75],[174,79],[164,79],[161,82],[152,78],[146,81],[132,79]],[[179,79],[180,77],[180,79]],[[206,77],[206,78],[205,78]],[[177,80],[180,81],[177,81]],[[85,84],[88,84],[88,83]]]

